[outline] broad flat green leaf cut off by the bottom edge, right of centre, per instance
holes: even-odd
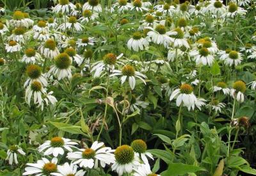
[[[175,176],[175,175],[185,175],[187,173],[195,173],[198,171],[205,171],[204,168],[193,166],[183,163],[172,163],[169,164],[168,170],[161,173],[162,176]]]

